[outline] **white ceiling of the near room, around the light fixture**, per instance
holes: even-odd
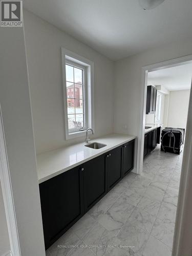
[[[139,0],[24,0],[24,8],[113,60],[192,37],[191,0],[153,10]]]

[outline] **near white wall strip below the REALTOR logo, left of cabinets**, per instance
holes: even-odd
[[[0,28],[0,34],[0,104],[20,250],[44,256],[24,29]]]

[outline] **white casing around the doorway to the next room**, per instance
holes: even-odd
[[[140,94],[140,120],[139,120],[139,136],[138,136],[138,151],[137,151],[137,174],[141,174],[143,170],[143,148],[144,148],[144,126],[145,126],[145,108],[146,105],[146,89],[147,89],[147,74],[150,71],[171,68],[180,65],[185,65],[192,62],[192,55],[154,63],[152,65],[141,68],[141,94]]]

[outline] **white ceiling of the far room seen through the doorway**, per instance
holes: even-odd
[[[147,84],[161,85],[169,91],[191,87],[192,63],[148,73]]]

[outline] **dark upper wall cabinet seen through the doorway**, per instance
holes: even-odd
[[[152,114],[156,111],[157,89],[153,86],[147,86],[146,93],[146,114]]]

